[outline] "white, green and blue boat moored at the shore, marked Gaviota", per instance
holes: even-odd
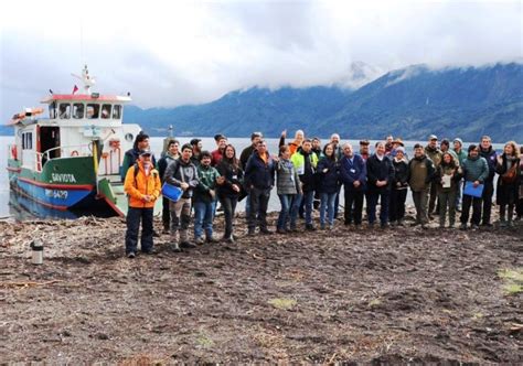
[[[92,93],[95,79],[87,66],[74,76],[83,82],[82,92],[76,94],[76,85],[71,94],[50,90],[41,100],[45,108],[26,108],[9,121],[14,128],[14,143],[8,147],[10,187],[50,209],[125,216],[121,163],[141,131],[122,123],[130,94]]]

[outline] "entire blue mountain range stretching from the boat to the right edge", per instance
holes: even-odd
[[[365,65],[351,65],[350,80],[365,79]],[[376,71],[377,73],[377,71]],[[523,141],[523,64],[431,69],[414,65],[392,71],[352,90],[338,86],[278,90],[254,87],[232,92],[199,106],[140,109],[128,107],[126,122],[140,123],[151,134],[223,132],[246,137],[262,130],[269,137],[288,129],[308,136],[381,139],[388,133],[425,140],[428,134],[478,141]],[[354,84],[352,84],[354,85]]]

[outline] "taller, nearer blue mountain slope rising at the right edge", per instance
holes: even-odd
[[[523,141],[523,65],[394,71],[351,94],[319,122],[352,138],[426,139],[428,134],[478,141]]]

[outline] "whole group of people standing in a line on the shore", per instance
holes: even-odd
[[[338,217],[340,193],[343,190],[343,223],[355,229],[362,226],[363,205],[366,202],[369,227],[382,228],[405,225],[405,202],[410,190],[416,207],[414,226],[426,228],[439,217],[439,226],[456,226],[461,212],[460,228],[477,229],[492,226],[491,211],[497,181],[497,204],[500,206],[500,226],[513,226],[514,218],[523,215],[523,148],[509,141],[498,153],[488,136],[479,144],[465,150],[461,139],[450,147],[447,139],[438,143],[431,134],[427,144],[414,146],[408,158],[401,139],[392,136],[374,144],[360,141],[359,151],[351,143],[341,143],[333,133],[321,146],[319,138],[308,139],[296,131],[287,143],[284,131],[278,154],[270,154],[260,132],[253,132],[252,144],[239,158],[236,149],[223,134],[215,136],[216,148],[203,150],[202,141],[193,139],[180,147],[175,139],[168,141],[162,157],[156,161],[149,147],[149,137],[138,134],[132,149],[126,152],[122,164],[125,191],[129,196],[127,215],[126,255],[137,254],[140,222],[141,251],[152,252],[153,206],[161,195],[162,184],[182,190],[177,202],[163,197],[163,233],[171,235],[175,251],[203,243],[218,241],[213,234],[216,204],[224,212],[225,230],[222,240],[233,243],[237,236],[234,217],[237,203],[245,198],[247,235],[273,234],[267,223],[267,209],[273,187],[280,201],[276,224],[278,234],[316,230],[313,211],[319,211],[319,228],[332,229]],[[319,201],[319,205],[314,205]],[[380,213],[377,217],[377,205]],[[470,218],[470,209],[472,215]],[[194,233],[189,227],[194,211]]]

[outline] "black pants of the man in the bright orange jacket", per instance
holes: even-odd
[[[136,251],[141,220],[141,251],[152,249],[152,212],[154,208],[129,207],[127,212],[126,254]]]

